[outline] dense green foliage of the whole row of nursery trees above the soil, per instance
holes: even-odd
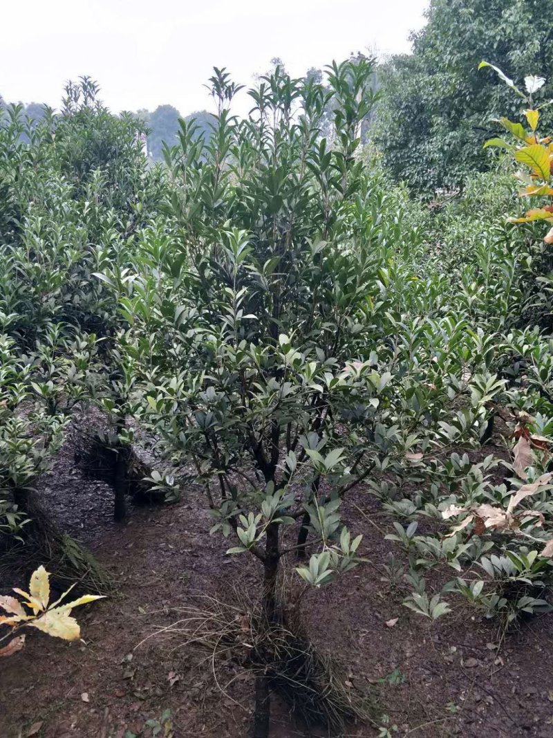
[[[240,86],[215,69],[209,134],[181,121],[163,166],[86,78],[60,115],[25,123],[15,107],[0,126],[3,547],[24,551],[47,518],[33,481],[74,413],[110,426],[118,520],[142,434],[150,489],[199,494],[193,477],[229,555],[260,562],[256,738],[282,570],[321,587],[360,564],[342,519],[354,489],[378,500],[391,596],[411,610],[468,603],[507,627],[551,609],[545,88],[528,77],[526,127],[511,113],[495,139],[540,206],[514,224],[509,159],[434,209],[391,184],[361,146],[373,74],[362,57],[324,80],[277,66],[240,120]]]

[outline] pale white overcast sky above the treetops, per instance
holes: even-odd
[[[203,83],[226,66],[250,84],[279,56],[292,75],[367,46],[406,52],[428,0],[1,1],[0,94],[58,106],[90,75],[115,112],[209,108]]]

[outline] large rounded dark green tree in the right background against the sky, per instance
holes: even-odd
[[[479,61],[515,80],[540,75],[550,83],[552,28],[549,0],[432,0],[412,53],[379,69],[375,137],[393,175],[433,193],[487,169],[490,157],[481,145],[492,135],[493,119],[514,117],[518,108],[500,80],[479,74]],[[540,96],[551,96],[549,86]]]

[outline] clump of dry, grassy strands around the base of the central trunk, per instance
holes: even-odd
[[[267,676],[271,689],[308,728],[324,727],[339,735],[349,723],[372,721],[372,700],[352,685],[341,663],[310,642],[297,604],[286,614],[281,610],[276,624],[269,624],[262,608],[240,593],[232,604],[201,597],[198,607],[179,608],[178,613],[178,621],[153,636],[176,638],[178,648],[206,653],[215,682],[227,697],[237,677],[222,683],[219,672],[231,662]]]

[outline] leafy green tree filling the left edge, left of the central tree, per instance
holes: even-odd
[[[44,562],[59,542],[71,539],[30,489],[35,477],[51,463],[77,403],[86,407],[106,395],[117,401],[123,391],[111,351],[122,320],[118,302],[93,272],[105,259],[114,269],[125,268],[133,233],[150,219],[162,190],[163,178],[147,169],[136,134],[136,123],[101,105],[88,78],[68,84],[59,115],[46,110],[32,122],[20,106],[0,115],[0,336],[10,348],[2,379],[10,368],[18,380],[15,395],[0,382],[9,418],[2,427],[0,499],[7,514],[15,505],[31,521],[21,537],[37,534]],[[31,406],[40,423],[27,420]],[[43,434],[44,424],[56,432],[46,427]],[[15,474],[20,466],[25,475]],[[118,517],[122,501],[117,495]],[[30,555],[35,548],[24,551]]]

